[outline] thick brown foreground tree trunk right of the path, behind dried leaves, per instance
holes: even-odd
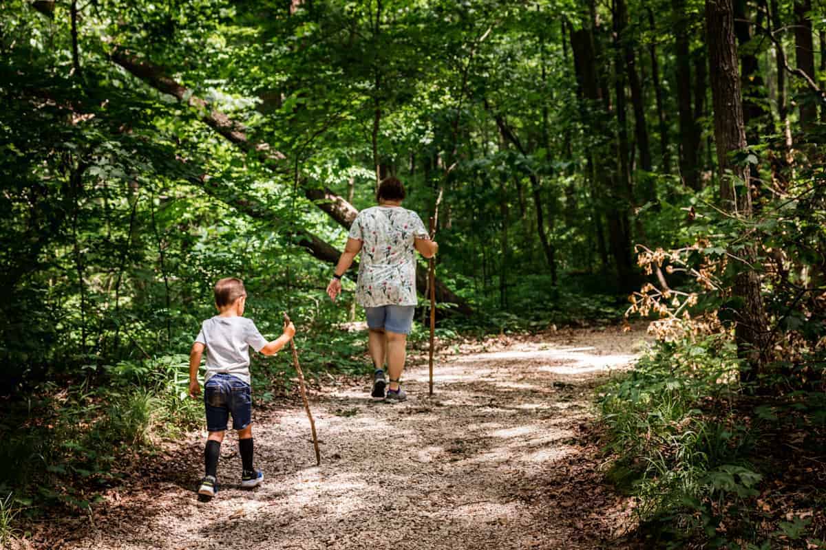
[[[720,198],[725,211],[748,219],[752,215],[749,172],[729,162],[729,153],[746,147],[743,103],[740,92],[739,59],[734,35],[732,0],[706,0],[705,25],[708,36],[711,94],[714,101],[714,138],[720,167]],[[742,180],[744,186],[734,186],[725,175],[726,169]],[[748,362],[750,369],[741,371],[743,380],[751,380],[766,363],[767,317],[763,308],[760,277],[751,268],[757,261],[757,245],[750,244],[737,252],[744,266],[734,280],[733,295],[739,301],[734,336],[738,357]]]

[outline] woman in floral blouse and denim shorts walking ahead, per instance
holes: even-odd
[[[364,307],[370,329],[370,356],[376,369],[371,395],[396,402],[407,398],[399,384],[416,304],[415,251],[432,258],[439,249],[419,215],[401,208],[405,196],[405,186],[396,177],[382,180],[376,192],[378,206],[362,210],[354,220],[347,246],[327,285],[327,294],[335,302],[341,292],[341,276],[353,265],[358,252],[362,253],[356,299]],[[385,357],[390,375],[387,397]]]

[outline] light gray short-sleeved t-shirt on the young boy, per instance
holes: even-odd
[[[215,374],[232,374],[246,383],[249,381],[249,346],[260,351],[267,339],[246,317],[216,315],[201,325],[195,341],[207,346],[207,382]]]

